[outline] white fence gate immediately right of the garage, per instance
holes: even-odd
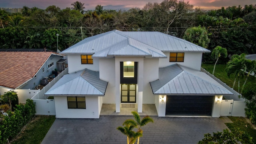
[[[220,116],[231,116],[234,100],[222,100]]]

